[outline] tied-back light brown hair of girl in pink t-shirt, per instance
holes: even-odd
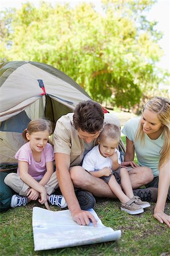
[[[49,135],[52,134],[51,122],[48,119],[37,118],[37,119],[31,120],[28,123],[27,129],[23,131],[22,136],[24,140],[28,142],[26,133],[31,135],[32,133],[36,133],[37,131],[45,131],[45,130],[49,132]]]

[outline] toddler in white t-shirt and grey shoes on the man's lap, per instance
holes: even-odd
[[[143,212],[143,208],[150,207],[150,204],[134,196],[126,168],[119,168],[121,162],[117,147],[120,137],[120,129],[111,123],[106,123],[99,135],[98,146],[93,147],[85,155],[82,167],[94,177],[106,181],[111,191],[121,201],[121,210],[129,214],[139,214]]]

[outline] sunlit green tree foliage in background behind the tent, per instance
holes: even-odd
[[[159,94],[158,84],[168,75],[156,68],[163,54],[157,43],[161,33],[146,19],[154,1],[102,2],[102,14],[85,2],[74,8],[42,2],[39,9],[27,2],[6,11],[1,18],[1,61],[52,65],[98,102],[128,110],[139,107]]]

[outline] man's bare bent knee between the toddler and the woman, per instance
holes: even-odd
[[[135,167],[129,171],[128,174],[130,175],[130,181],[133,189],[146,185],[154,179],[152,170],[144,166]]]

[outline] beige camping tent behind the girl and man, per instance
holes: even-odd
[[[88,94],[59,69],[34,61],[0,64],[0,170],[16,164],[24,144],[22,131],[35,118],[48,118],[55,129],[61,115],[73,112]]]

